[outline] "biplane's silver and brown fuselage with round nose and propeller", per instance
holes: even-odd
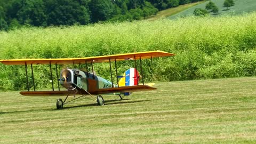
[[[60,84],[66,89],[78,88],[86,91],[117,87],[105,78],[78,69],[62,69]]]

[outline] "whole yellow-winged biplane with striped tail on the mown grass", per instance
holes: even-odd
[[[64,100],[58,99],[56,102],[57,109],[63,108],[63,105],[76,100],[81,97],[90,97],[90,99],[97,101],[99,106],[104,105],[104,99],[102,95],[104,94],[114,94],[118,95],[121,99],[124,96],[130,95],[134,91],[145,91],[145,90],[155,90],[156,88],[146,85],[143,81],[143,71],[141,65],[141,59],[152,59],[156,57],[170,57],[175,55],[173,53],[167,53],[163,51],[148,51],[148,52],[135,52],[135,53],[125,53],[125,54],[115,54],[115,55],[104,55],[99,57],[87,57],[87,58],[64,58],[64,59],[11,59],[11,60],[0,60],[5,65],[24,65],[26,71],[27,79],[27,91],[21,91],[21,95],[26,96],[65,96]],[[123,60],[133,60],[134,68],[130,68],[125,71],[122,76],[117,75],[116,61]],[[137,60],[140,62],[140,73],[137,70]],[[97,62],[109,62],[111,82],[105,78],[102,78],[94,73],[93,63]],[[115,62],[115,72],[117,84],[113,83],[113,74],[111,68],[111,62]],[[51,91],[36,91],[35,89],[35,79],[33,72],[33,65],[49,65],[51,73]],[[57,65],[72,65],[75,64],[85,65],[85,69],[77,68],[65,68],[58,73]],[[88,64],[92,72],[88,70]],[[33,79],[34,91],[30,91],[29,81],[28,81],[28,66],[31,66],[31,75]],[[55,65],[56,75],[58,78],[58,90],[54,90],[53,84],[53,73],[52,65]],[[142,79],[142,84],[139,84],[139,79]],[[119,78],[119,79],[118,79]],[[60,90],[60,85],[65,89]],[[70,95],[74,95],[74,99],[67,101]],[[75,95],[80,95],[75,98]]]

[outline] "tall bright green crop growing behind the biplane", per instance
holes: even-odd
[[[177,55],[143,61],[147,82],[255,76],[255,19],[256,13],[251,13],[2,31],[0,58],[75,58],[163,50]],[[134,67],[133,61],[117,65],[118,75]],[[63,67],[67,66],[59,70]],[[1,64],[0,69],[0,89],[26,89],[24,66]],[[48,66],[35,66],[34,71],[37,87],[51,86]],[[95,71],[111,79],[108,63],[98,63]]]

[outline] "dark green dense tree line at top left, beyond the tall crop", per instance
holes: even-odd
[[[198,1],[203,0],[1,0],[0,30],[140,20]]]

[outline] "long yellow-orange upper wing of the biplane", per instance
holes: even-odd
[[[0,60],[5,65],[37,65],[37,64],[82,64],[90,62],[108,62],[121,61],[121,60],[134,60],[134,59],[149,59],[156,57],[169,57],[175,55],[164,51],[148,51],[148,52],[135,52],[125,54],[104,55],[99,57],[87,57],[87,58],[64,58],[64,59],[12,59],[12,60]]]

